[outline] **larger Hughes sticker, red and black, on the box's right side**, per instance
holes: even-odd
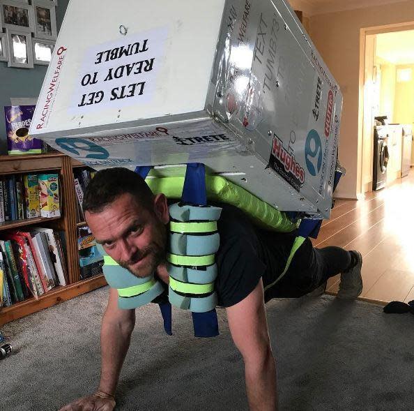
[[[293,188],[300,190],[305,181],[305,170],[296,162],[295,156],[284,147],[282,140],[275,135],[272,152],[270,153],[270,167],[278,172]]]

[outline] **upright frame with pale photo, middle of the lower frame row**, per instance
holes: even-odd
[[[33,44],[31,33],[6,29],[8,43],[8,67],[33,68]]]

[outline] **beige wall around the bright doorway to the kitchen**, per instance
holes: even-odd
[[[414,1],[360,8],[310,18],[310,36],[344,94],[339,159],[346,175],[337,188],[340,197],[360,193],[359,132],[360,29],[414,21]]]

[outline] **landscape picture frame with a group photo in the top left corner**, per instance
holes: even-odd
[[[34,31],[33,6],[24,1],[0,0],[0,20],[4,29]]]

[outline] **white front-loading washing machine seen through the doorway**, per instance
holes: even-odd
[[[372,189],[380,190],[387,184],[387,165],[390,159],[388,151],[389,130],[387,126],[374,127],[374,172]]]

